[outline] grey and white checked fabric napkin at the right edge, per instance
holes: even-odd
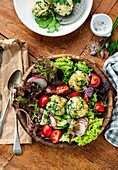
[[[105,138],[112,145],[118,147],[118,52],[106,60],[103,69],[117,92],[116,104],[105,132]]]

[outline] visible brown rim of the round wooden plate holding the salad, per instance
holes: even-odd
[[[89,60],[83,58],[83,57],[79,57],[79,56],[74,56],[71,54],[61,54],[61,55],[55,55],[55,56],[51,56],[49,57],[49,59],[51,60],[55,60],[57,58],[61,58],[61,57],[71,57],[72,61],[74,62],[78,62],[78,61],[85,61],[87,66],[89,68],[93,68],[93,71],[101,77],[102,80],[106,81],[107,84],[110,84],[108,79],[106,78],[105,74],[100,70],[100,68],[95,64],[90,62]],[[23,79],[27,79],[27,77],[29,76],[31,70],[32,70],[33,66],[31,66],[27,72],[24,74]],[[23,83],[23,82],[22,82]],[[22,83],[20,85],[22,85]],[[107,92],[107,97],[108,97],[108,105],[106,107],[106,113],[103,113],[103,124],[101,126],[101,132],[104,130],[104,128],[106,127],[106,125],[108,124],[110,118],[111,118],[111,114],[112,114],[112,109],[113,109],[113,92],[112,89],[110,88]],[[28,131],[28,127],[27,127],[27,121],[26,121],[26,115],[22,112],[18,112],[18,118],[19,121],[21,123],[21,125],[23,126],[23,128],[26,130],[26,132]],[[100,133],[98,134],[98,136],[100,135]],[[38,136],[32,136],[37,142],[40,142],[44,145],[56,148],[56,149],[65,149],[65,148],[75,148],[78,147],[78,145],[76,143],[71,143],[68,144],[66,142],[60,142],[57,144],[53,144],[50,140],[44,140],[44,138],[42,137],[38,137]]]

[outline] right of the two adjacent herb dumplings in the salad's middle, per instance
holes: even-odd
[[[88,113],[88,105],[81,97],[72,97],[67,102],[67,114],[72,118],[80,118]]]

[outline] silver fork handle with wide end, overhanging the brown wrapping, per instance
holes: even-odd
[[[18,136],[18,122],[17,122],[16,114],[15,114],[15,139],[14,139],[13,153],[15,155],[21,155],[22,153],[19,136]]]

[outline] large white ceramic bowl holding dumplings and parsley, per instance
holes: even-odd
[[[22,23],[30,30],[38,34],[51,37],[63,36],[79,28],[88,17],[93,4],[93,0],[86,0],[86,7],[84,9],[84,12],[77,20],[68,25],[61,25],[58,32],[47,33],[47,29],[40,28],[35,22],[35,16],[33,16],[30,6],[30,3],[32,1],[33,0],[14,0],[14,7],[18,17],[20,18]]]

